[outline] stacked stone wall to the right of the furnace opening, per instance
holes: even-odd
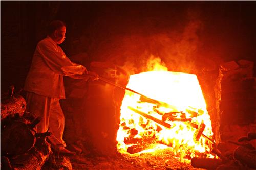
[[[239,60],[221,64],[216,90],[220,129],[255,121],[255,90],[253,62]]]

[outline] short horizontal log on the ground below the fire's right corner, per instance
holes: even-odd
[[[223,164],[223,161],[221,159],[197,158],[197,157],[194,157],[191,159],[191,165],[197,168],[216,169],[221,164]]]

